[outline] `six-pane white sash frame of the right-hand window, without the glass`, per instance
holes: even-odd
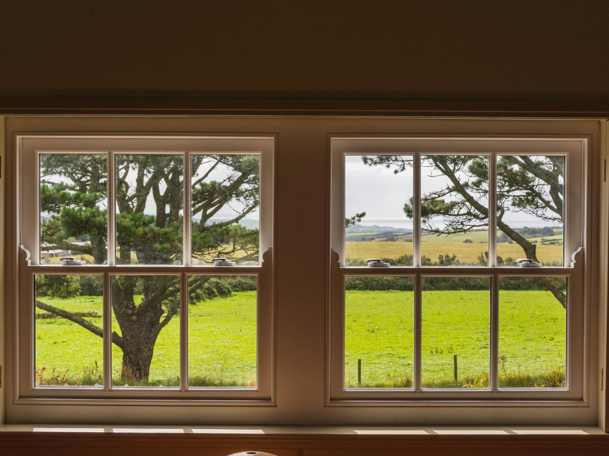
[[[538,406],[541,402],[563,405],[584,404],[589,364],[586,349],[585,247],[589,243],[590,201],[586,198],[586,172],[590,163],[590,137],[574,135],[488,136],[488,135],[395,135],[329,137],[331,156],[331,228],[329,362],[326,404],[329,406],[379,403],[399,406],[443,406],[447,401],[491,406],[499,401]],[[414,266],[366,268],[345,266],[345,156],[403,154],[414,159]],[[565,156],[565,241],[564,267],[523,269],[496,266],[496,213],[489,211],[488,266],[421,266],[420,260],[420,157],[438,154],[472,154],[489,157],[489,207],[495,206],[496,157],[500,155]],[[587,214],[587,216],[586,216]],[[412,389],[346,389],[345,277],[350,275],[403,275],[414,278],[414,387]],[[490,290],[490,385],[489,389],[422,389],[421,379],[421,277],[466,277],[484,275]],[[500,389],[498,387],[498,280],[509,276],[563,276],[567,286],[567,349],[565,389]]]

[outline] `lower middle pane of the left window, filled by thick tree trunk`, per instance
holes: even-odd
[[[180,385],[180,276],[113,275],[112,384]]]

